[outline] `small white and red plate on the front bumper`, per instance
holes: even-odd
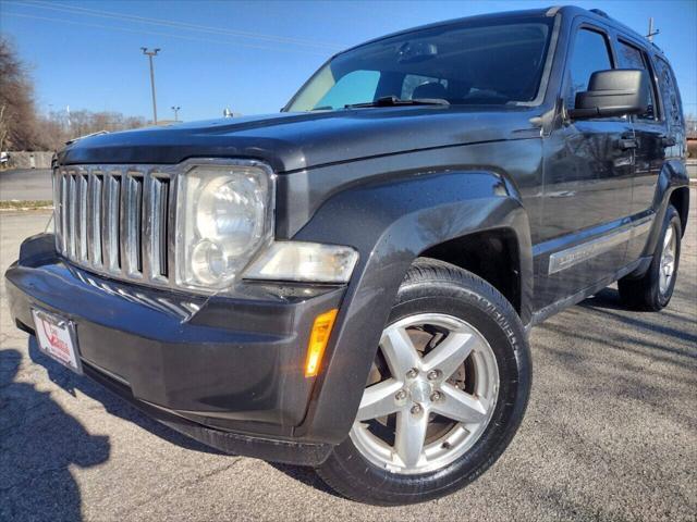
[[[33,309],[32,315],[39,350],[73,372],[82,374],[75,324],[44,310]]]

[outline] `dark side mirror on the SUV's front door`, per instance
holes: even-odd
[[[590,75],[588,90],[576,94],[576,103],[568,115],[574,120],[584,120],[641,114],[648,109],[648,91],[646,71],[596,71]]]

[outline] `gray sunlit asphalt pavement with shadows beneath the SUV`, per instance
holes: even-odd
[[[692,190],[692,200],[697,190]],[[696,521],[697,209],[675,295],[613,288],[534,328],[533,394],[503,457],[464,490],[376,508],[311,471],[220,455],[51,363],[0,285],[0,520]],[[0,268],[46,212],[0,214]]]

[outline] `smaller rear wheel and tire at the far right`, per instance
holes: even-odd
[[[661,236],[646,274],[617,282],[620,297],[627,308],[658,312],[668,306],[677,278],[682,235],[680,215],[671,204],[665,211]]]

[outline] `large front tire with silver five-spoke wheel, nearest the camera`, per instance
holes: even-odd
[[[469,272],[419,259],[398,293],[351,434],[317,472],[367,504],[448,495],[501,456],[530,380],[509,301]]]

